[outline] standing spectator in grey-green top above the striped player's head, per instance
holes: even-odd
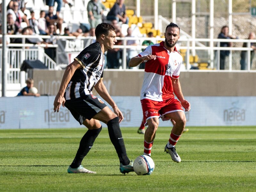
[[[106,7],[99,0],[90,0],[87,4],[88,19],[91,28],[102,23],[102,14]]]

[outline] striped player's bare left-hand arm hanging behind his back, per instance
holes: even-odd
[[[78,68],[82,68],[82,66],[80,65],[80,63],[76,60],[74,60],[72,63],[70,63],[65,72],[64,72],[64,75],[62,77],[62,81],[61,81],[61,84],[60,84],[60,90],[59,92],[57,93],[56,97],[55,97],[55,100],[54,100],[54,112],[59,112],[60,111],[60,106],[62,104],[62,106],[64,107],[64,103],[65,103],[65,98],[64,98],[64,93],[65,93],[65,90],[66,90],[66,87],[71,79],[71,77],[74,75],[76,69]]]

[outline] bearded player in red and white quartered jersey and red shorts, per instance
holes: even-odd
[[[184,99],[179,82],[182,56],[175,47],[180,38],[178,25],[170,23],[165,29],[164,37],[165,41],[149,45],[143,52],[133,57],[129,66],[135,67],[146,62],[140,93],[144,123],[148,124],[144,135],[144,155],[151,156],[159,118],[161,117],[163,121],[172,119],[176,123],[172,127],[164,151],[171,155],[173,161],[179,163],[181,160],[175,144],[186,125],[183,108],[189,111],[190,103]],[[178,100],[174,98],[174,94]]]

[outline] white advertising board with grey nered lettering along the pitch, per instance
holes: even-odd
[[[53,112],[55,96],[0,98],[0,129],[82,127],[67,108]],[[140,98],[112,97],[124,115],[121,127],[139,127],[142,121]],[[185,112],[187,126],[256,125],[256,97],[186,97],[191,110]],[[108,104],[107,104],[108,105]],[[109,106],[109,105],[108,105]],[[159,126],[170,126],[160,119]],[[102,123],[103,127],[107,127]]]

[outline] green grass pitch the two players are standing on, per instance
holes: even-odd
[[[103,128],[83,166],[68,174],[85,128],[0,130],[0,191],[256,191],[256,127],[188,127],[176,145],[181,163],[164,152],[170,128],[159,127],[151,175],[121,174]],[[143,154],[144,136],[121,128],[127,154]]]

